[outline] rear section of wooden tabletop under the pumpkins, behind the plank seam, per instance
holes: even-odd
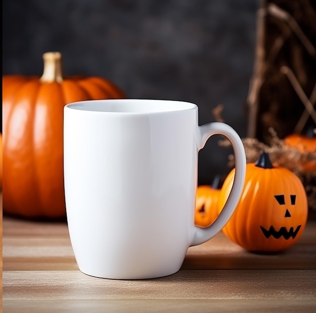
[[[5,217],[4,270],[78,270],[66,222],[32,222]],[[190,247],[182,270],[316,270],[316,221],[309,221],[297,244],[280,254],[245,251],[222,232]]]

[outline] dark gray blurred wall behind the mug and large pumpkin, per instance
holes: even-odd
[[[255,0],[4,0],[3,74],[41,75],[42,53],[60,51],[68,75],[99,75],[130,98],[199,107],[199,123],[223,118],[246,136]],[[231,150],[210,139],[199,184],[225,177]]]

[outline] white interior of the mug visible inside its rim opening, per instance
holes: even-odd
[[[107,99],[79,101],[69,103],[66,107],[97,112],[153,113],[189,110],[196,105],[174,100]]]

